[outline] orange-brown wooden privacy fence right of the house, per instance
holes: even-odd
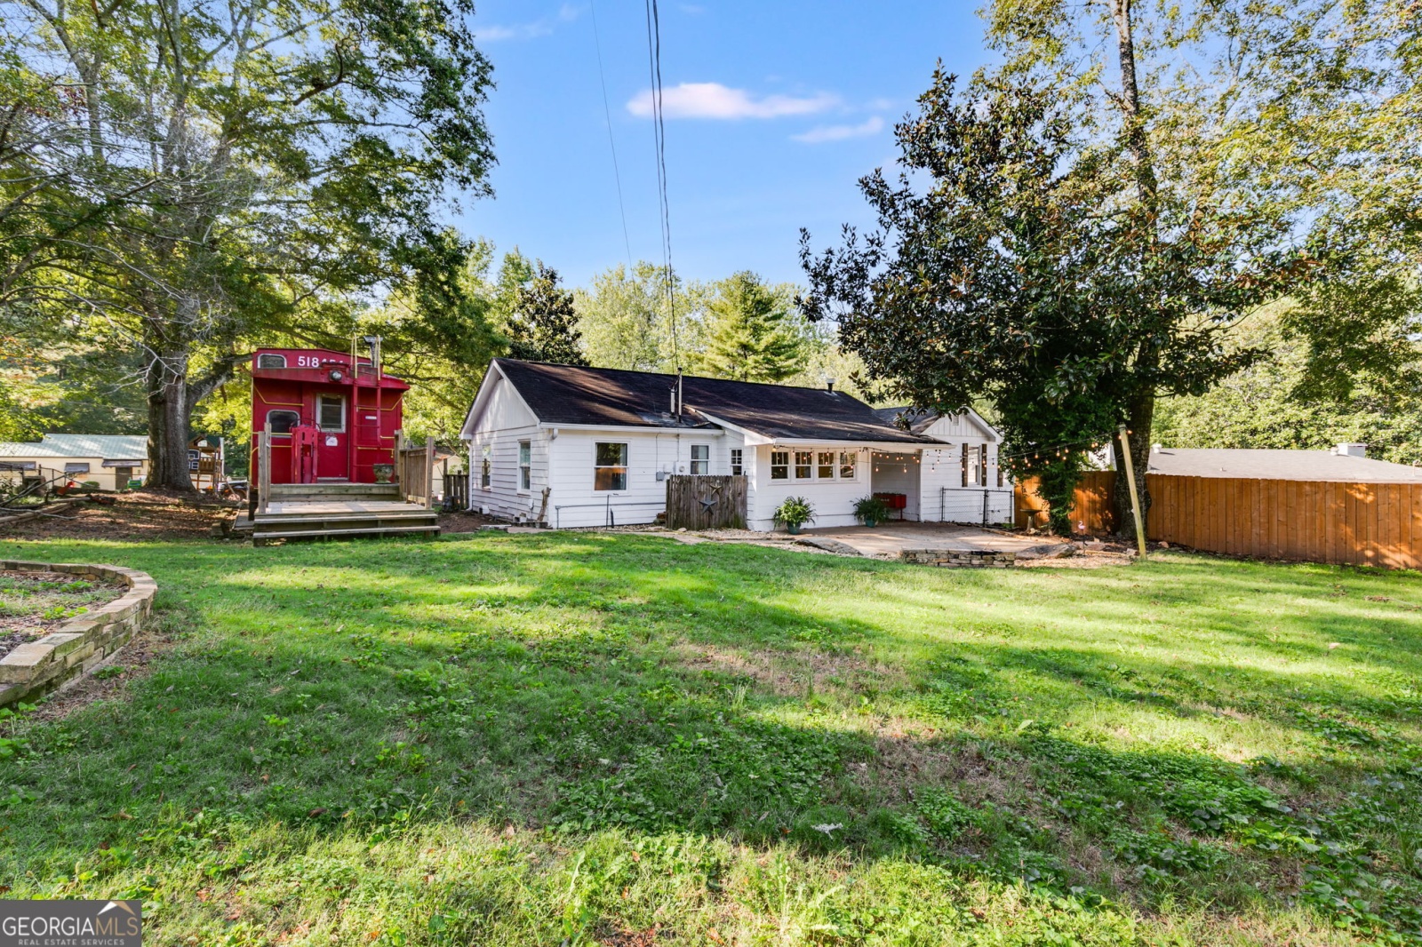
[[[1098,471],[1078,485],[1074,532],[1111,532],[1115,478]],[[1146,535],[1158,542],[1263,559],[1422,569],[1422,483],[1150,474],[1146,489]],[[1017,486],[1020,528],[1045,525],[1044,508],[1034,479]]]

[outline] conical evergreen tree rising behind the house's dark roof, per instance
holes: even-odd
[[[738,381],[784,381],[799,371],[803,338],[786,300],[759,276],[744,270],[722,280],[708,310],[698,371]]]

